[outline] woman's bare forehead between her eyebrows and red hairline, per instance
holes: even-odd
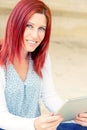
[[[47,19],[46,19],[46,16],[44,14],[40,14],[40,13],[35,13],[33,14],[29,21],[30,23],[32,24],[39,24],[39,25],[43,25],[43,26],[46,26],[47,24]]]

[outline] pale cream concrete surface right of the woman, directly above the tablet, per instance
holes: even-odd
[[[50,56],[57,93],[63,99],[87,96],[87,47],[51,41]],[[47,112],[43,104],[41,110]]]

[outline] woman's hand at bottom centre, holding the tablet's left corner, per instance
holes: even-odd
[[[63,121],[60,115],[54,115],[49,113],[36,118],[35,129],[36,130],[56,130],[57,126]]]

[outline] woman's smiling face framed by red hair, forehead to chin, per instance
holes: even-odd
[[[43,41],[47,26],[46,16],[35,13],[29,19],[24,32],[23,49],[26,52],[33,52]]]

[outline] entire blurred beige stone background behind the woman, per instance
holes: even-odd
[[[52,11],[50,57],[57,93],[87,95],[87,0],[42,0]],[[18,0],[0,0],[0,38]]]

